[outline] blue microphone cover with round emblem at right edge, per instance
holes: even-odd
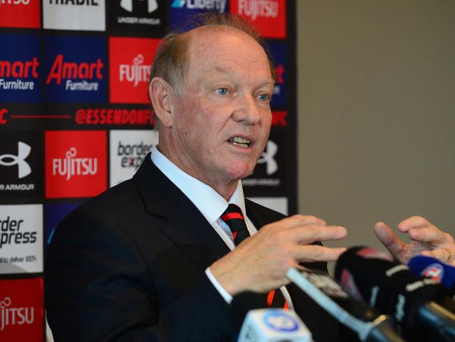
[[[409,269],[415,275],[431,278],[439,281],[449,292],[450,296],[455,295],[455,267],[445,264],[442,261],[418,255],[407,263]]]

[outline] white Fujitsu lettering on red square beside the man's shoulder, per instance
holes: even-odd
[[[76,158],[78,151],[71,147],[65,153],[65,158],[52,159],[52,175],[64,176],[69,181],[73,176],[96,175],[98,158]]]

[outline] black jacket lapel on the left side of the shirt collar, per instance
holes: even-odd
[[[165,219],[162,233],[200,268],[230,251],[197,207],[151,162],[150,155],[133,179],[147,212]]]

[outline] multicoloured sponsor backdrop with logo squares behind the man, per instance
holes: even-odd
[[[247,18],[267,41],[273,127],[243,183],[247,197],[295,213],[295,1],[0,0],[0,341],[51,338],[43,260],[52,235],[158,143],[151,62],[169,27],[206,11]]]

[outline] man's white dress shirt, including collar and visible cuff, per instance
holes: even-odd
[[[229,249],[232,250],[235,248],[234,237],[232,236],[228,224],[221,219],[221,215],[228,209],[229,204],[232,203],[240,207],[245,218],[246,228],[248,228],[250,235],[258,233],[254,224],[248,219],[248,216],[246,216],[244,191],[240,181],[237,182],[237,187],[234,193],[232,193],[229,202],[227,202],[223,196],[210,186],[201,182],[199,179],[188,175],[188,173],[172,163],[171,160],[158,150],[157,146],[153,146],[151,159],[153,164],[155,164],[155,166],[189,198],[198,210],[200,210],[216,233],[218,233],[225,244],[228,245]],[[232,296],[221,286],[218,280],[216,280],[211,273],[210,268],[207,268],[205,273],[225,301],[230,303],[232,301]],[[281,287],[281,292],[283,292],[283,296],[288,302],[289,307],[292,308],[292,301],[290,300],[286,287]]]

